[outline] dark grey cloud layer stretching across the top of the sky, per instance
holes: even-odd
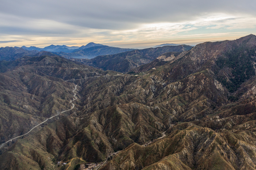
[[[255,0],[9,0],[0,11],[94,29],[135,28],[139,23],[190,21],[209,13],[256,15]]]

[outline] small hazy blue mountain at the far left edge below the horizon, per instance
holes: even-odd
[[[0,61],[1,60],[11,61],[26,55],[34,55],[37,53],[38,51],[36,50],[28,51],[28,50],[24,50],[23,48],[0,47]]]

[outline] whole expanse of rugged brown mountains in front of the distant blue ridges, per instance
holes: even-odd
[[[201,43],[137,75],[58,56],[2,61],[2,142],[78,99],[4,145],[0,169],[256,169],[255,51],[254,35]]]

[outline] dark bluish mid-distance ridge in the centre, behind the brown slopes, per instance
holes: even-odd
[[[139,65],[147,64],[166,52],[182,52],[190,50],[192,47],[187,45],[180,46],[164,46],[157,48],[147,48],[143,50],[134,50],[123,52],[120,54],[103,55],[92,58],[90,60],[76,59],[93,67],[103,70],[113,70],[117,72],[128,72],[130,69]]]

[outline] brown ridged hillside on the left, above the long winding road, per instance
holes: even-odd
[[[58,56],[0,61],[0,143],[25,134],[45,118],[71,108],[73,79],[102,71]]]

